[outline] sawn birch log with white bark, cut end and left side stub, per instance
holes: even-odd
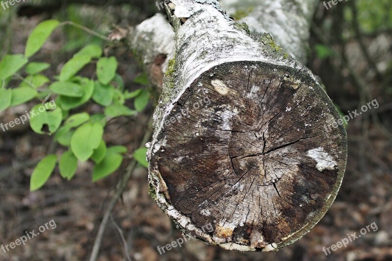
[[[161,61],[150,195],[187,236],[209,244],[271,251],[294,242],[343,179],[346,132],[328,125],[340,120],[337,110],[311,71],[269,34],[252,37],[216,0],[172,0],[166,9],[175,57],[167,69]],[[168,28],[159,15],[136,28],[146,66],[172,56]]]

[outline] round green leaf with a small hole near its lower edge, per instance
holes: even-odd
[[[49,134],[53,134],[61,125],[63,114],[61,109],[51,102],[44,105],[37,104],[31,109],[30,127],[38,134],[44,134],[44,126],[49,127]]]

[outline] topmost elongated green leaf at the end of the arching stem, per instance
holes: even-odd
[[[27,39],[25,48],[25,57],[29,58],[34,55],[48,40],[50,34],[57,27],[59,22],[57,20],[47,20],[38,24]]]

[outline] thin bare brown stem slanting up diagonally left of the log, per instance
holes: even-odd
[[[152,136],[152,117],[150,117],[148,129],[147,129],[146,134],[143,138],[143,141],[141,142],[141,145],[144,145],[145,143],[147,143],[150,140],[151,136]],[[116,186],[117,191],[113,195],[112,199],[110,200],[109,205],[107,207],[107,210],[106,210],[105,214],[103,215],[101,224],[99,226],[98,234],[95,239],[94,246],[93,246],[93,251],[90,256],[90,261],[96,261],[98,258],[98,253],[99,253],[99,248],[100,248],[100,245],[102,242],[103,233],[105,232],[105,228],[106,228],[107,222],[109,220],[109,217],[110,217],[114,207],[116,206],[116,203],[119,200],[120,196],[123,194],[123,191],[126,189],[126,187],[128,185],[128,181],[131,178],[133,170],[135,169],[136,165],[137,165],[137,162],[135,159],[133,159],[129,163],[125,175],[117,183],[117,186]]]

